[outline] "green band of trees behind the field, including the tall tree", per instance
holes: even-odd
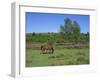
[[[64,20],[64,24],[60,25],[59,32],[48,33],[31,33],[26,34],[26,42],[35,43],[89,43],[89,32],[81,33],[80,25],[77,21],[71,21],[69,18]]]

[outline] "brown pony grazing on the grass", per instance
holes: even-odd
[[[50,44],[47,44],[47,43],[41,45],[41,50],[42,50],[42,54],[44,54],[44,53],[53,54],[53,52],[54,52],[53,46]]]

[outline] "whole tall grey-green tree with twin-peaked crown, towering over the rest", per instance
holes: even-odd
[[[66,41],[76,43],[79,41],[80,26],[76,21],[72,24],[72,21],[69,18],[66,18],[64,25],[60,25],[60,34]]]

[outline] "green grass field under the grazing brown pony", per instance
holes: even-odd
[[[38,49],[26,49],[26,67],[89,64],[89,48],[60,48],[54,54],[40,53]]]

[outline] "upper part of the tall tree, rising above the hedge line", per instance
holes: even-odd
[[[60,25],[60,33],[64,33],[67,35],[70,34],[79,34],[80,33],[80,26],[77,21],[72,21],[69,18],[66,18],[64,21],[64,25]]]

